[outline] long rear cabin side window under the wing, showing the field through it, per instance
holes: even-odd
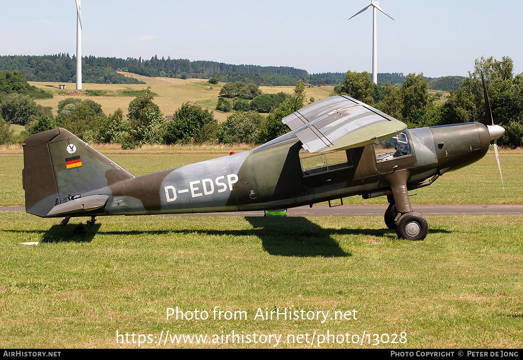
[[[312,176],[353,167],[353,159],[349,150],[313,154],[305,149],[301,149],[300,163],[303,176]]]

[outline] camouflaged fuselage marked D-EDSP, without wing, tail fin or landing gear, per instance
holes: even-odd
[[[78,216],[270,210],[390,189],[481,159],[490,145],[481,123],[406,130],[396,144],[323,154],[302,149],[291,131],[251,151],[130,178],[81,194],[107,195],[104,207]],[[387,148],[389,147],[389,148]],[[73,215],[76,216],[76,215]]]

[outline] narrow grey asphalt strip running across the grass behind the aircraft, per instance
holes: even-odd
[[[383,216],[386,205],[328,205],[300,206],[287,211],[287,216]],[[482,216],[523,215],[523,204],[465,204],[465,205],[413,205],[413,210],[425,216]],[[25,211],[23,206],[0,206],[0,211]],[[209,212],[160,216],[263,216],[263,211]]]

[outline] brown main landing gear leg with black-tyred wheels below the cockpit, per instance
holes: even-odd
[[[408,172],[400,170],[388,175],[392,195],[388,195],[389,207],[385,211],[385,225],[401,239],[423,240],[428,233],[427,220],[417,212],[412,211],[411,199],[408,195]]]

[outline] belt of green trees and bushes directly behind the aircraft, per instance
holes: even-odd
[[[508,57],[501,61],[492,57],[476,59],[474,70],[458,91],[445,96],[443,103],[437,101],[442,92],[430,94],[426,78],[415,73],[408,74],[402,84],[380,85],[372,83],[367,72],[347,71],[344,82],[334,87],[334,93],[361,100],[405,122],[409,128],[472,121],[490,124],[482,73],[493,118],[505,128],[498,144],[523,147],[523,73],[514,74],[513,61]],[[217,82],[217,78],[209,79],[210,84]],[[48,96],[46,92],[30,86],[20,72],[0,71],[0,144],[20,143],[30,134],[55,127],[83,134],[89,142],[121,143],[123,148],[178,142],[261,144],[289,131],[281,121],[285,116],[315,102],[313,97],[305,97],[305,87],[299,80],[291,95],[263,94],[254,83],[225,83],[216,110],[234,112],[220,124],[208,109],[190,103],[175,111],[173,121],[168,120],[153,102],[156,94],[150,92],[150,87],[138,92],[129,103],[127,119],[121,109],[107,116],[100,104],[79,97],[61,100],[58,114],[53,116],[51,107],[37,105],[34,100]],[[10,129],[12,124],[25,126],[26,130],[15,136]]]

